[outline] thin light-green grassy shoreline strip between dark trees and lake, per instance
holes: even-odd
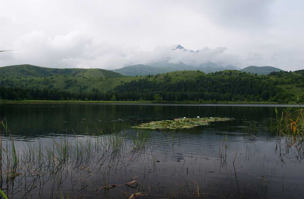
[[[112,105],[160,105],[160,106],[299,106],[277,102],[160,102],[154,101],[78,101],[78,100],[0,100],[0,104],[112,104]]]

